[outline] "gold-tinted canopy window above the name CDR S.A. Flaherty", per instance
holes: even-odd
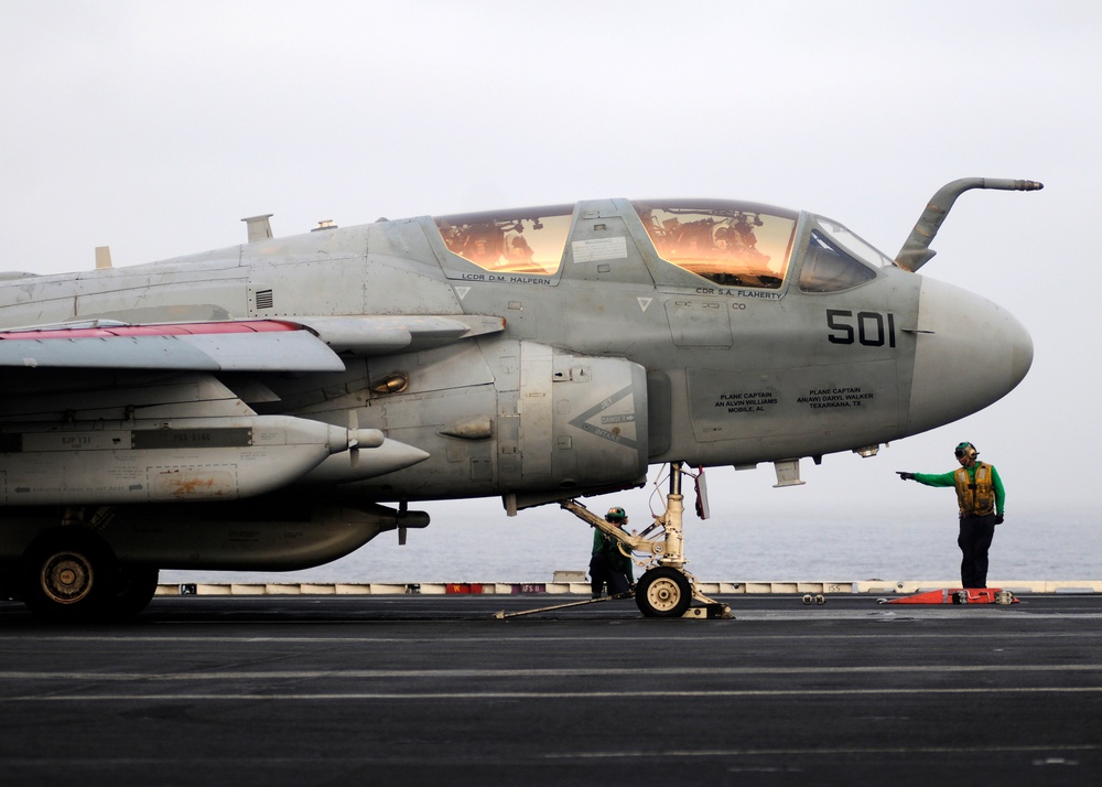
[[[725,287],[784,283],[798,214],[721,200],[633,205],[667,262]]]

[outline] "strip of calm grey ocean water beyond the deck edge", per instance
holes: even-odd
[[[702,581],[723,582],[959,579],[953,503],[941,499],[890,514],[750,508],[703,521],[687,511],[688,569]],[[341,560],[303,571],[162,571],[161,581],[549,582],[557,570],[588,567],[591,528],[557,506],[512,518],[496,500],[424,508],[432,524],[410,530],[406,546],[391,531]],[[649,524],[646,511],[629,514],[629,529]],[[1102,508],[1015,507],[995,529],[990,558],[993,582],[1102,580]]]

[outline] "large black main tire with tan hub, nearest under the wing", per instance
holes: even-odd
[[[71,526],[39,536],[23,553],[23,603],[50,621],[90,621],[112,600],[115,553],[94,532]]]

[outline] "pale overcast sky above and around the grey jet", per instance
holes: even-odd
[[[800,489],[717,473],[713,505],[926,505],[943,493],[893,471],[971,440],[1012,516],[1098,506],[1096,0],[0,0],[0,66],[10,270],[238,244],[260,213],[290,235],[612,196],[810,209],[895,256],[948,181],[1042,181],[963,195],[922,269],[1026,325],[1022,386],[876,459],[804,461]]]

